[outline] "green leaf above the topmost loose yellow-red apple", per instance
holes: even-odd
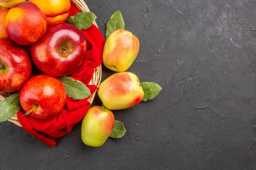
[[[108,20],[106,26],[106,39],[117,29],[124,29],[124,18],[120,11],[115,12]]]

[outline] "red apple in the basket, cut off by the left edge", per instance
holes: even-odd
[[[14,42],[1,40],[0,47],[0,93],[18,91],[30,77],[30,57]]]

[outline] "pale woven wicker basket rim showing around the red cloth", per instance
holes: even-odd
[[[70,0],[70,1],[71,1],[80,11],[90,11],[90,10],[88,9],[88,6],[85,4],[85,2],[84,2],[83,0]],[[95,21],[93,22],[93,24],[94,24],[95,26],[97,26],[97,24],[96,24]],[[97,26],[97,27],[98,27],[98,26]],[[100,84],[100,82],[101,82],[101,73],[102,73],[102,71],[101,71],[101,65],[100,65],[100,66],[98,66],[97,68],[94,69],[94,74],[93,74],[92,79],[91,79],[91,81],[90,81],[89,84],[90,84],[90,85],[96,85],[96,86],[99,87],[99,84]],[[91,97],[88,99],[88,102],[90,102],[90,104],[92,104],[95,94],[96,94],[96,91],[95,91],[95,92],[91,95]],[[4,98],[8,97],[9,95],[10,95],[9,93],[8,93],[8,94],[0,94],[0,102],[1,102]],[[11,121],[13,124],[16,124],[16,125],[22,127],[22,126],[20,125],[20,122],[18,121],[18,117],[17,117],[16,114],[15,114],[11,119],[9,119],[8,121]]]

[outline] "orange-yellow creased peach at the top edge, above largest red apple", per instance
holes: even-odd
[[[48,24],[65,22],[70,13],[70,0],[29,0],[46,15]]]

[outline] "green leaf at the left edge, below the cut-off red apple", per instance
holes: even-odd
[[[7,121],[20,110],[20,93],[5,98],[0,102],[0,121]]]

